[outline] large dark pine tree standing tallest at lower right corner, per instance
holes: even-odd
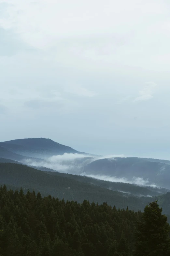
[[[142,222],[136,233],[135,256],[170,255],[170,226],[167,217],[162,215],[157,201],[149,203],[144,209]]]

